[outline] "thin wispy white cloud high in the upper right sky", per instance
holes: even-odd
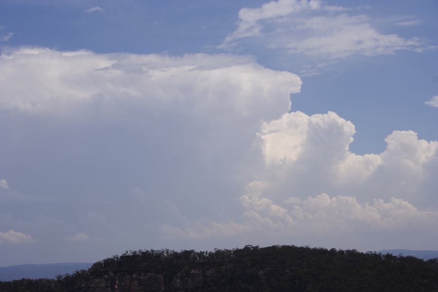
[[[257,43],[289,54],[331,60],[425,49],[420,38],[379,32],[370,18],[347,14],[348,10],[351,9],[307,0],[278,0],[258,8],[242,8],[236,31],[219,47],[238,45],[241,38],[255,38]],[[414,20],[404,23],[414,24]]]

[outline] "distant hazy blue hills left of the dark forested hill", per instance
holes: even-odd
[[[58,263],[0,267],[0,281],[19,280],[22,278],[55,278],[59,274],[72,274],[77,270],[88,269],[91,265],[92,263]]]

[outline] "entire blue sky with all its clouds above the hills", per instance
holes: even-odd
[[[438,3],[0,0],[0,266],[438,249]]]

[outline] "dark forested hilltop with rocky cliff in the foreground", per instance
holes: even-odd
[[[0,282],[1,292],[438,292],[438,258],[271,246],[129,251],[56,279]]]

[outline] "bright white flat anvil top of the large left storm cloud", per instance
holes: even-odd
[[[221,104],[237,115],[259,119],[266,107],[276,114],[287,111],[290,101],[284,96],[301,87],[295,74],[263,68],[248,57],[103,55],[46,48],[1,55],[0,76],[0,108],[29,112],[71,110],[93,100],[141,100],[150,106],[190,104],[201,113]],[[25,88],[23,78],[29,81]]]

